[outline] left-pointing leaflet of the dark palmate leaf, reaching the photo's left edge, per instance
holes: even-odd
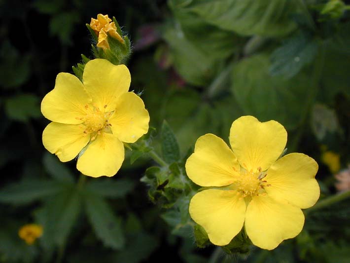
[[[65,186],[53,180],[30,179],[0,190],[0,202],[23,205],[63,191]]]

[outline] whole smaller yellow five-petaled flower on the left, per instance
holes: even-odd
[[[44,147],[62,162],[79,154],[77,169],[88,176],[113,176],[124,160],[125,143],[135,143],[148,131],[143,101],[128,92],[125,65],[104,59],[85,65],[83,83],[74,75],[57,75],[55,88],[41,102],[52,122],[42,133]]]

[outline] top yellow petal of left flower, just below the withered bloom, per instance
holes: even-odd
[[[128,92],[131,76],[125,65],[115,66],[105,59],[90,60],[83,73],[84,87],[93,104],[106,112],[112,112],[117,99]]]

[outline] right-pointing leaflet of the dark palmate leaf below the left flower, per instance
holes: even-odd
[[[99,179],[86,183],[85,189],[93,194],[108,198],[120,198],[135,188],[135,182],[126,178]]]

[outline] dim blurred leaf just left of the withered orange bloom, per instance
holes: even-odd
[[[50,34],[57,36],[65,45],[71,45],[71,35],[75,24],[80,21],[79,14],[76,12],[62,12],[55,14],[49,23]]]

